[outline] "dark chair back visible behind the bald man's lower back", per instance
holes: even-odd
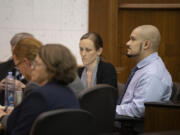
[[[170,100],[172,102],[180,102],[180,83],[173,83],[172,95]]]

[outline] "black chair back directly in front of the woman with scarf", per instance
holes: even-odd
[[[98,84],[81,91],[79,101],[82,109],[94,115],[97,133],[113,130],[117,102],[116,88],[107,84]]]

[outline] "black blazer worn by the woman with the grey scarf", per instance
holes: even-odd
[[[84,67],[78,68],[78,75],[81,78]],[[96,84],[109,84],[117,88],[117,73],[114,66],[110,63],[99,61],[97,69]]]

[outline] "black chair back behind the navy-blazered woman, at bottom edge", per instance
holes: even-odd
[[[94,135],[92,114],[81,109],[58,109],[40,114],[30,135]]]

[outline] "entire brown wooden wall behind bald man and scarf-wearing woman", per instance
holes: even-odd
[[[135,63],[126,57],[126,42],[138,25],[153,24],[162,34],[159,55],[173,81],[180,82],[180,0],[90,0],[89,31],[100,33],[104,56],[126,82]]]

